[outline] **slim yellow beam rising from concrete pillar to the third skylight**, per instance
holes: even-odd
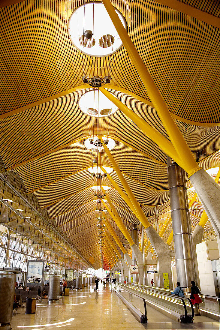
[[[107,148],[107,146],[105,144],[103,144],[103,148],[109,158],[109,160],[111,161],[123,187],[125,188],[126,193],[128,194],[128,197],[131,201],[131,203],[133,204],[133,207],[138,215],[138,219],[140,220],[140,222],[142,223],[142,225],[144,226],[144,228],[148,228],[150,227],[150,223],[148,222],[145,214],[143,213],[139,203],[137,202],[136,198],[134,197],[134,194],[132,193],[130,187],[128,186],[127,181],[125,180],[125,178],[123,177],[122,172],[120,171],[120,168],[118,167],[116,161],[114,160],[112,154],[110,153],[109,149]]]

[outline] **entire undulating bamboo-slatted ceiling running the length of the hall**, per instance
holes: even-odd
[[[81,54],[71,44],[68,18],[82,1],[17,2],[3,1],[8,6],[0,9],[0,154],[6,168],[14,168],[27,190],[33,191],[41,207],[47,208],[83,256],[93,256],[94,267],[100,268],[94,192],[90,188],[97,182],[87,170],[92,166],[92,152],[83,143],[92,135],[93,118],[83,114],[77,104],[88,89],[85,86],[65,91],[82,85],[84,73],[90,77],[110,74],[109,90],[167,139],[168,136],[124,47],[112,57],[97,58]],[[112,4],[126,18],[128,34],[196,160],[205,169],[219,166],[220,31],[206,21],[204,13],[212,15],[214,21],[220,16],[220,3],[179,1],[192,6],[189,16],[161,2],[166,3],[114,0]],[[193,16],[194,9],[200,11],[201,20]],[[62,96],[55,97],[57,93]],[[50,100],[45,102],[48,97]],[[24,108],[12,112],[21,107]],[[95,119],[95,134],[97,124]],[[155,222],[156,205],[159,217],[168,216],[164,151],[120,110],[99,119],[99,128],[100,134],[115,139],[112,155],[149,221]],[[99,156],[100,164],[112,166],[104,152]],[[111,176],[124,191],[115,171]],[[107,178],[102,182],[112,187]],[[187,184],[189,187],[190,182]],[[108,195],[128,230],[132,223],[139,224],[114,188]],[[106,217],[111,219],[108,212]],[[199,215],[191,214],[191,220],[194,229]],[[124,235],[110,221],[128,248]],[[209,230],[210,223],[205,227],[206,232]],[[170,231],[171,226],[164,235],[165,241]]]

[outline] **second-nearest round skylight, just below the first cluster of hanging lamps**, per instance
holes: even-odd
[[[117,99],[118,97],[114,95]],[[80,110],[91,117],[108,117],[118,111],[118,108],[98,89],[89,90],[78,100]]]

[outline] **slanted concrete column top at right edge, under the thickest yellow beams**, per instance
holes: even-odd
[[[205,213],[216,233],[218,249],[220,252],[220,186],[204,169],[191,175],[190,181],[192,182]]]

